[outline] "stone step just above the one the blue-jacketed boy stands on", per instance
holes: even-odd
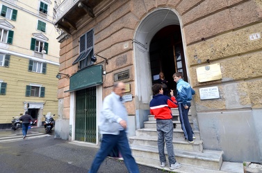
[[[200,139],[199,131],[194,130],[194,134],[196,139]],[[174,129],[173,130],[173,138],[183,138],[183,130],[182,129]],[[136,136],[157,136],[156,128],[144,128],[137,129]]]

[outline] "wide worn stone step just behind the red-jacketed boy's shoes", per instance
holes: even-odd
[[[130,145],[132,155],[139,164],[159,165],[159,155],[157,146]],[[204,149],[203,152],[188,152],[174,149],[174,154],[179,163],[195,167],[202,167],[211,170],[220,170],[222,165],[222,151],[213,151]],[[167,152],[165,151],[167,156]],[[168,159],[167,159],[168,161]],[[179,168],[180,169],[180,168]],[[179,170],[178,169],[178,170]],[[174,170],[177,172],[177,170]]]

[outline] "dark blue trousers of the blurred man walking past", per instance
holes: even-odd
[[[110,153],[113,147],[117,145],[124,158],[124,164],[126,168],[131,173],[138,173],[138,165],[131,154],[131,149],[129,147],[129,141],[126,137],[126,131],[120,131],[119,135],[103,134],[101,147],[95,156],[89,173],[96,173],[99,170],[101,163],[104,161],[106,156]]]

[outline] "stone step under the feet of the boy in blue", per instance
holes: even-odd
[[[173,138],[174,149],[181,149],[192,152],[203,151],[203,141],[194,140],[195,143],[190,144],[184,138]],[[133,145],[144,145],[144,146],[157,146],[157,136],[131,136],[129,137],[130,144]]]

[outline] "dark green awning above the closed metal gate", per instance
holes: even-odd
[[[69,90],[72,92],[81,89],[86,89],[91,86],[97,86],[103,83],[102,66],[89,66],[81,71],[78,71],[70,77]]]

